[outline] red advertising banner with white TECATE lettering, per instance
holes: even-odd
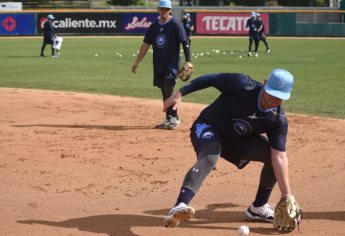
[[[249,18],[249,13],[197,13],[197,33],[247,35],[246,23]],[[262,13],[261,19],[264,22],[266,33],[269,32],[268,14]]]

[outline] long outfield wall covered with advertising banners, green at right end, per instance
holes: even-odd
[[[184,10],[195,22],[194,35],[247,35],[250,10]],[[344,37],[344,10],[259,11],[271,36]],[[42,35],[48,14],[59,35],[143,35],[157,18],[151,10],[55,10],[0,13],[0,36]]]

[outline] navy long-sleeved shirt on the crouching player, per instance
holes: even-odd
[[[218,129],[226,142],[250,135],[267,134],[272,148],[285,151],[288,122],[281,106],[263,111],[259,96],[263,84],[244,74],[209,74],[180,89],[182,95],[215,87],[221,95],[201,113],[199,119]]]

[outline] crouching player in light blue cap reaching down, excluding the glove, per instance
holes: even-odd
[[[293,197],[286,155],[288,121],[281,106],[290,98],[292,86],[293,76],[283,69],[273,70],[264,84],[244,74],[208,74],[192,80],[165,101],[166,109],[177,107],[182,96],[201,89],[215,87],[221,92],[192,125],[190,137],[197,162],[187,172],[176,205],[165,217],[166,227],[176,227],[194,215],[188,204],[219,157],[239,169],[250,161],[264,164],[255,200],[245,215],[251,220],[273,221],[268,199],[276,182],[282,199]]]

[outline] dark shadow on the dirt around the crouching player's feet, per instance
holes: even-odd
[[[237,207],[231,203],[220,203],[208,205],[206,209],[197,210],[193,220],[183,222],[179,227],[195,229],[223,229],[237,231],[234,227],[212,226],[227,222],[245,223],[243,211],[217,211],[217,209]],[[97,215],[82,218],[69,219],[65,221],[46,220],[21,220],[21,224],[41,224],[63,228],[77,228],[80,231],[92,233],[104,233],[109,236],[136,235],[131,231],[131,227],[163,227],[163,218],[169,209],[160,209],[144,212],[147,215]],[[305,220],[333,220],[345,221],[345,211],[335,212],[304,212]],[[267,223],[262,223],[263,227],[251,227],[251,232],[262,235],[276,235],[277,232]],[[229,232],[231,233],[231,232]]]

